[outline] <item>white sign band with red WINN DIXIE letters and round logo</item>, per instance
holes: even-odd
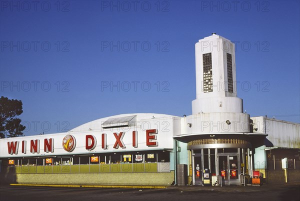
[[[53,137],[50,138],[42,138],[40,136],[36,136],[35,139],[23,139],[23,137],[17,137],[20,140],[12,141],[11,139],[13,138],[7,140],[6,151],[8,153],[8,156],[21,156],[22,154],[33,155],[34,153],[52,153],[54,152],[54,150],[57,154],[63,154],[67,152],[82,153],[92,150],[101,151],[107,149],[144,149],[152,146],[155,146],[157,148],[157,136],[159,136],[158,130],[147,129],[143,132],[144,133],[140,133],[140,135],[138,135],[139,133],[136,130],[133,130],[131,132],[113,132],[109,135],[106,133],[77,133],[73,135],[53,135]],[[170,144],[172,143],[171,135],[169,136],[169,140],[166,139],[168,135],[169,134],[167,133],[161,133],[159,144],[162,144],[162,147],[164,148],[170,148]],[[167,143],[166,141],[171,142],[170,144],[168,144],[168,147],[164,146]],[[1,141],[1,146],[3,147],[3,145],[3,141]],[[3,150],[1,149],[1,152],[2,151]],[[1,154],[2,157],[3,155],[6,154]]]

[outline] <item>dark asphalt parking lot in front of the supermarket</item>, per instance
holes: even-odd
[[[98,188],[0,185],[0,200],[300,200],[300,185]]]

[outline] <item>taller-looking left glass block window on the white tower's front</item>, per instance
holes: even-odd
[[[202,54],[203,57],[203,91],[212,91],[212,65],[211,53]]]

